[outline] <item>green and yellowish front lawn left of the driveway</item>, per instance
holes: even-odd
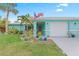
[[[25,42],[19,35],[0,35],[0,55],[2,56],[63,56],[54,42]]]

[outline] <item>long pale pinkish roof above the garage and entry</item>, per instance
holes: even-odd
[[[32,20],[79,20],[79,17],[39,17]]]

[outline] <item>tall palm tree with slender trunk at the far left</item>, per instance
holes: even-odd
[[[18,10],[15,9],[16,4],[14,3],[1,3],[0,4],[0,10],[3,10],[6,12],[6,25],[5,25],[5,32],[8,33],[8,17],[9,17],[9,13],[12,12],[15,15],[18,13]]]

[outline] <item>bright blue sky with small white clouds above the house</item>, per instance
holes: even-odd
[[[29,13],[43,13],[45,17],[78,17],[79,4],[78,3],[17,3],[16,7],[19,11],[18,15],[25,15]],[[0,11],[1,16],[5,16],[5,12]],[[17,16],[10,13],[10,20],[17,20]]]

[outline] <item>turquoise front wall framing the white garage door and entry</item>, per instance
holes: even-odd
[[[34,22],[39,22],[40,20],[35,20]],[[43,20],[41,20],[43,21]],[[50,31],[50,22],[66,22],[68,24],[67,26],[67,35],[70,34],[74,34],[76,37],[79,37],[79,20],[44,20],[43,22],[45,22],[45,34],[48,37],[49,35],[51,35]],[[34,36],[36,36],[36,23],[34,23]],[[52,25],[51,25],[52,26]]]

